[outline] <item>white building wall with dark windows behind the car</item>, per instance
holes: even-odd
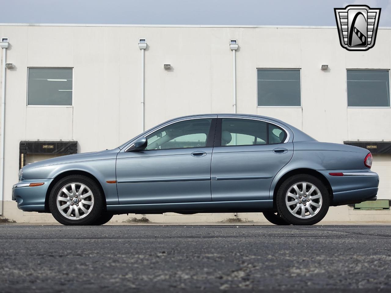
[[[20,141],[77,140],[78,152],[91,152],[141,132],[140,38],[148,43],[145,129],[176,116],[231,113],[229,40],[237,39],[237,113],[281,119],[319,141],[391,140],[390,108],[352,109],[346,98],[346,69],[390,69],[390,29],[379,29],[366,52],[341,48],[329,27],[0,25],[0,36],[9,37],[7,62],[15,65],[6,73],[3,215],[10,218]],[[26,106],[29,67],[74,68],[73,106]],[[302,107],[257,107],[256,68],[300,69]],[[374,160],[374,171],[387,172],[390,157]],[[379,197],[391,199],[389,180],[381,184]]]

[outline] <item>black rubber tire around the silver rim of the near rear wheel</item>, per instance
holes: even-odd
[[[287,195],[289,189],[291,189],[291,187],[294,184],[298,184],[299,182],[306,182],[312,184],[316,186],[316,188],[321,193],[321,200],[322,200],[321,206],[319,210],[310,218],[299,218],[298,216],[295,216],[293,213],[291,213],[291,211],[287,207],[287,204],[285,203],[285,196]],[[298,174],[286,179],[281,184],[280,188],[277,191],[276,205],[277,205],[278,214],[280,214],[283,220],[285,220],[287,223],[290,223],[292,225],[314,225],[320,222],[326,216],[328,207],[330,206],[330,194],[327,191],[325,184],[323,184],[323,182],[319,180],[317,177],[314,177],[312,175],[307,175],[307,174]],[[294,209],[295,207],[296,205],[293,205],[292,209]],[[301,207],[303,207],[303,205],[301,205]],[[304,210],[306,211],[305,207]],[[299,208],[298,211],[301,211],[301,208]]]

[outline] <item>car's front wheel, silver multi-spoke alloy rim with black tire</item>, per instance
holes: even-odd
[[[60,179],[49,195],[50,212],[63,225],[93,225],[103,211],[103,195],[89,177]]]

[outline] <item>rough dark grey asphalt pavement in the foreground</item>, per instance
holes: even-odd
[[[0,292],[391,292],[391,226],[0,225]]]

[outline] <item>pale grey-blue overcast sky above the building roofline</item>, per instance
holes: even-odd
[[[391,0],[0,0],[0,23],[168,25],[335,25],[334,7],[381,7]]]

